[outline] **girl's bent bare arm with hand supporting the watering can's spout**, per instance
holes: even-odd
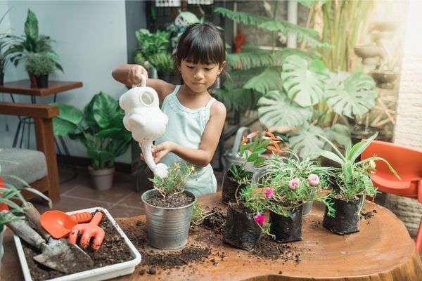
[[[219,101],[215,101],[210,109],[210,119],[205,126],[202,140],[198,149],[185,148],[170,141],[161,143],[153,147],[154,160],[156,163],[173,152],[181,159],[196,164],[198,166],[207,166],[210,164],[214,152],[217,149],[219,137],[222,134],[224,121],[226,119],[226,107]]]

